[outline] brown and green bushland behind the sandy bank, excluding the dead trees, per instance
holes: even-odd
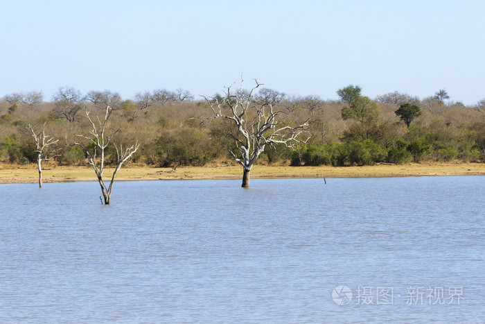
[[[449,101],[445,90],[418,99],[393,92],[370,99],[362,89],[349,85],[338,89],[338,101],[319,96],[286,96],[262,88],[254,100],[271,99],[281,117],[290,123],[310,119],[312,137],[306,144],[289,149],[267,146],[259,164],[366,165],[380,162],[485,162],[485,99],[473,106]],[[36,160],[33,129],[60,139],[53,162],[85,164],[78,146],[67,146],[79,134],[89,133],[85,107],[102,113],[113,109],[110,128],[118,130],[117,142],[136,139],[141,148],[132,157],[136,164],[156,167],[202,166],[233,163],[228,148],[234,126],[213,119],[206,100],[178,89],[158,89],[124,100],[116,92],[81,94],[64,87],[50,101],[42,93],[8,94],[0,101],[0,161],[28,164]],[[116,148],[107,147],[107,163],[115,162]]]

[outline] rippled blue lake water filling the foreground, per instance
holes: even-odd
[[[484,181],[0,185],[0,322],[484,323]]]

